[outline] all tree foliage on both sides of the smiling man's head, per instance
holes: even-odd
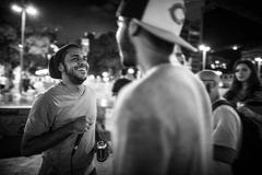
[[[103,72],[118,73],[122,66],[119,59],[115,33],[94,35],[90,38],[90,73],[100,75]],[[53,54],[50,44],[57,39],[57,33],[46,27],[25,28],[24,70],[34,72],[48,67],[48,54]],[[15,68],[20,65],[20,28],[11,24],[0,24],[0,62]]]

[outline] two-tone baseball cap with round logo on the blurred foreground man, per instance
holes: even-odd
[[[190,50],[196,49],[181,38],[186,19],[183,0],[122,0],[118,18],[131,19],[159,49],[172,51],[174,44]]]

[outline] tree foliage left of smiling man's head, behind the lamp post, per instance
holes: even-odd
[[[24,69],[34,70],[47,68],[47,55],[52,54],[50,44],[56,39],[56,32],[46,27],[25,28]],[[20,65],[21,33],[11,24],[0,24],[0,61],[15,68]]]

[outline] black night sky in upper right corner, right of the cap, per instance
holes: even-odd
[[[218,4],[212,10],[206,10],[203,28],[205,43],[217,49],[234,44],[247,47],[262,45],[262,12],[258,2],[238,1],[231,7]]]

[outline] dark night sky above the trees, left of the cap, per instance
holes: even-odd
[[[1,18],[20,25],[21,18],[12,12],[11,2],[1,0]],[[58,28],[59,43],[75,42],[84,32],[95,32],[99,35],[117,28],[115,11],[118,0],[31,0],[28,2],[38,9],[39,14],[27,16],[26,25]]]

